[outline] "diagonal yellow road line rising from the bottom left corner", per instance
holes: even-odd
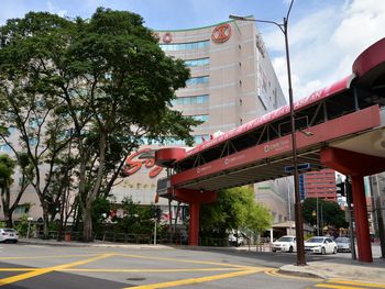
[[[79,265],[84,265],[84,264],[87,264],[87,263],[91,263],[91,262],[95,262],[95,260],[99,260],[99,259],[103,259],[103,258],[110,257],[113,254],[103,254],[103,255],[96,256],[94,258],[89,258],[89,259],[85,259],[85,260],[77,260],[77,262],[74,262],[74,263],[68,263],[68,264],[64,264],[64,265],[57,265],[57,266],[47,267],[47,268],[38,268],[38,269],[33,270],[33,271],[29,271],[29,273],[25,273],[25,274],[21,274],[21,275],[8,277],[8,278],[4,278],[4,279],[0,279],[0,286],[8,285],[8,284],[13,284],[13,282],[21,281],[21,280],[25,280],[25,279],[29,279],[29,278],[32,278],[32,277],[35,277],[35,276],[40,276],[40,275],[43,275],[43,274],[47,274],[47,273],[51,273],[51,271],[66,269],[66,268],[75,267],[75,266],[79,266]]]

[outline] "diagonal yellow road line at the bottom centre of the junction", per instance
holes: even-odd
[[[242,271],[234,271],[234,273],[228,273],[228,274],[220,274],[215,276],[207,276],[207,277],[200,277],[200,278],[189,278],[189,279],[183,279],[177,281],[169,281],[169,282],[162,282],[162,284],[152,284],[152,285],[143,285],[143,286],[136,286],[136,287],[128,287],[127,289],[155,289],[155,288],[168,288],[168,287],[175,287],[175,286],[182,286],[182,285],[191,285],[191,284],[201,284],[201,282],[208,282],[208,281],[215,281],[220,279],[227,279],[249,274],[254,274],[262,271],[261,269],[249,269],[249,270],[242,270]]]

